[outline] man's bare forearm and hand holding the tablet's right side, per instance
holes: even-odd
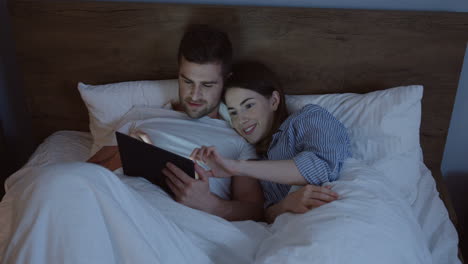
[[[229,221],[263,220],[263,192],[257,180],[233,177],[232,199],[225,200],[211,193],[208,183],[210,172],[198,164],[195,164],[195,170],[199,180],[191,178],[171,163],[163,170],[177,202]]]

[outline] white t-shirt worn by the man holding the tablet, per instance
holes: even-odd
[[[229,159],[257,157],[254,147],[226,121],[207,116],[193,119],[184,112],[171,109],[136,106],[122,118],[117,129],[124,134],[133,130],[146,133],[154,145],[184,157],[189,157],[194,148],[203,145],[215,146],[220,155]],[[230,199],[230,178],[210,178],[209,181],[211,192]]]

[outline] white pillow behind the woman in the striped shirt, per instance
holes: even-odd
[[[347,128],[353,158],[382,171],[412,204],[420,178],[420,85],[396,87],[367,94],[290,95],[290,112],[304,105],[327,109]],[[294,189],[292,189],[294,190]]]

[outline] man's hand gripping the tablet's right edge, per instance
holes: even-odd
[[[174,192],[175,200],[188,207],[213,213],[218,197],[211,193],[208,181],[209,172],[198,164],[195,171],[199,179],[188,176],[183,170],[168,162],[162,173],[167,176],[166,183]]]

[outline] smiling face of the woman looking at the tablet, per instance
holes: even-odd
[[[268,135],[278,109],[278,92],[267,98],[252,90],[228,88],[225,100],[232,126],[249,143],[256,144]]]

